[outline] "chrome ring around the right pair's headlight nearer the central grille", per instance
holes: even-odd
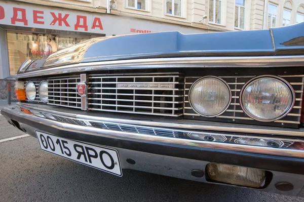
[[[217,114],[213,114],[213,115],[206,115],[206,114],[201,113],[200,111],[198,111],[198,110],[193,106],[192,101],[191,101],[191,92],[192,92],[192,90],[194,89],[195,85],[196,85],[197,83],[199,83],[202,79],[206,79],[206,78],[213,78],[213,79],[219,80],[219,82],[221,82],[221,83],[224,84],[224,86],[227,88],[227,91],[228,91],[228,93],[229,93],[229,101],[227,102],[227,105],[224,107],[224,109],[223,109],[221,112],[219,112],[219,113],[217,113]],[[203,77],[198,78],[198,79],[191,85],[191,87],[190,87],[190,89],[189,89],[189,93],[188,93],[188,100],[189,100],[189,104],[190,104],[191,108],[192,108],[197,114],[199,114],[199,115],[201,115],[201,116],[204,116],[204,117],[216,117],[216,116],[219,116],[219,115],[221,115],[222,113],[224,113],[224,112],[227,110],[227,108],[229,108],[229,106],[230,106],[230,104],[231,104],[231,101],[232,101],[232,92],[231,92],[231,89],[230,89],[229,85],[225,82],[225,80],[221,79],[220,77],[218,77],[218,76],[203,76]]]

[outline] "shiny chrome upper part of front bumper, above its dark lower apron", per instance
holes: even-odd
[[[218,135],[226,139],[262,138],[265,140],[280,140],[291,144],[293,142],[304,142],[303,129],[223,124],[187,119],[177,120],[166,117],[157,117],[155,119],[149,117],[147,119],[147,116],[143,115],[93,113],[63,107],[21,103],[13,107],[4,108],[2,113],[13,120],[18,119],[17,122],[21,123],[30,121],[38,125],[38,127],[39,125],[45,125],[67,132],[77,131],[78,133],[105,138],[304,158],[304,150],[301,149],[244,145],[235,141],[226,143],[195,140],[187,135],[185,135],[187,136],[186,138],[182,137],[184,135],[180,135],[195,133],[200,135]],[[49,132],[54,134],[52,129]]]

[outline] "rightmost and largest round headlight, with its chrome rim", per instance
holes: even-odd
[[[294,105],[294,91],[277,76],[258,76],[242,89],[241,106],[255,120],[272,122],[284,117]]]

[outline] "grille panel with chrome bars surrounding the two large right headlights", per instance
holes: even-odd
[[[280,120],[276,120],[275,123],[281,124],[300,124],[301,116],[301,105],[302,105],[302,94],[303,94],[303,84],[304,84],[304,75],[279,75],[280,77],[287,80],[290,83],[292,88],[295,91],[295,104],[293,109]],[[243,120],[252,120],[248,117],[240,106],[240,93],[243,86],[254,77],[252,76],[219,76],[230,86],[232,101],[229,108],[217,116],[217,118],[225,119],[243,119]],[[188,76],[184,80],[184,115],[188,116],[200,116],[197,114],[189,104],[188,92],[191,85],[198,79],[200,76]],[[211,120],[212,118],[209,118]]]

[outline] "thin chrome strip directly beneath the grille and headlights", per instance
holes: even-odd
[[[143,119],[134,119],[134,114],[124,114],[125,118],[118,118],[117,114],[108,114],[108,116],[93,116],[93,115],[84,115],[77,113],[67,113],[67,108],[62,108],[61,112],[57,109],[55,111],[51,106],[37,106],[37,104],[30,103],[17,103],[17,106],[27,107],[29,109],[35,109],[42,112],[54,113],[62,116],[75,117],[79,119],[90,119],[92,121],[101,121],[101,122],[114,122],[122,124],[133,124],[133,125],[143,125],[151,127],[168,127],[176,129],[189,129],[189,130],[206,130],[206,131],[217,131],[217,132],[234,132],[234,133],[253,133],[253,134],[265,134],[265,135],[284,135],[284,136],[297,136],[304,137],[304,129],[289,129],[289,128],[276,128],[276,127],[264,127],[264,126],[251,126],[251,125],[241,125],[241,124],[228,124],[228,123],[216,123],[216,122],[206,122],[202,120],[163,120],[159,116],[149,117],[149,120]],[[198,114],[196,114],[198,115]],[[112,116],[112,117],[111,117]],[[198,115],[199,116],[199,115]],[[113,118],[115,117],[115,118]]]

